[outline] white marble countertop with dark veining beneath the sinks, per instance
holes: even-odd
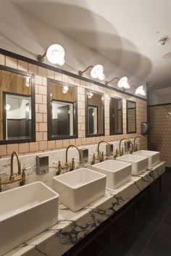
[[[164,162],[159,162],[139,176],[132,176],[130,181],[118,189],[106,189],[104,197],[96,200],[78,212],[59,203],[59,221],[19,247],[12,249],[5,256],[60,256],[67,252],[80,239],[93,231],[114,212],[133,199],[146,186],[164,173]]]

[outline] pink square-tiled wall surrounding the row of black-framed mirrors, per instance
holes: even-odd
[[[97,86],[93,83],[72,78],[68,75],[47,70],[43,67],[38,67],[27,62],[23,62],[18,59],[6,57],[0,54],[0,64],[7,67],[13,67],[18,70],[24,70],[26,72],[36,75],[36,142],[24,143],[24,144],[7,144],[0,145],[0,158],[9,157],[9,155],[16,150],[20,155],[33,154],[37,152],[46,152],[51,150],[57,150],[66,148],[69,144],[87,145],[96,144],[101,139],[107,141],[117,141],[123,137],[133,138],[140,133],[141,121],[147,120],[146,115],[146,101],[137,99],[133,96],[128,96],[116,91],[112,91],[108,88]],[[59,81],[70,83],[78,86],[78,139],[65,139],[57,141],[47,141],[47,78],[53,78]],[[104,93],[104,108],[105,108],[105,136],[86,138],[85,136],[85,88],[92,89]],[[109,97],[117,96],[123,99],[123,135],[109,136]],[[136,118],[137,118],[137,133],[126,133],[126,99],[136,102]],[[146,142],[142,141],[142,148],[146,148]]]

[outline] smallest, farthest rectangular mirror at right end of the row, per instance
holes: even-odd
[[[127,100],[127,133],[136,133],[136,102]]]

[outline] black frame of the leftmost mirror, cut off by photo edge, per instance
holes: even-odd
[[[29,76],[31,79],[31,133],[32,138],[31,139],[12,139],[12,140],[6,140],[6,141],[0,141],[0,145],[4,144],[22,144],[27,142],[35,142],[36,141],[36,112],[35,112],[35,75],[22,71],[22,70],[16,70],[12,67],[4,67],[3,65],[0,65],[0,70],[8,71],[11,73],[15,73],[18,75],[25,75]],[[8,93],[10,94],[10,93]],[[4,115],[4,110],[3,110]],[[4,122],[3,122],[3,130],[4,130]]]

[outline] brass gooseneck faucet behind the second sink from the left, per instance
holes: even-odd
[[[68,149],[70,149],[70,147],[72,147],[72,146],[74,146],[75,149],[78,149],[78,146],[76,146],[76,145],[67,146],[67,150],[65,152],[65,165],[61,165],[60,161],[58,162],[58,170],[57,170],[57,173],[56,173],[57,175],[59,175],[61,173],[61,170],[64,170],[64,169],[68,170],[69,168],[70,168],[70,170],[74,170],[75,169],[75,158],[74,157],[72,158],[71,164],[69,164],[67,162],[67,152],[68,152]],[[80,149],[78,149],[78,153],[79,153],[79,162],[81,162]]]

